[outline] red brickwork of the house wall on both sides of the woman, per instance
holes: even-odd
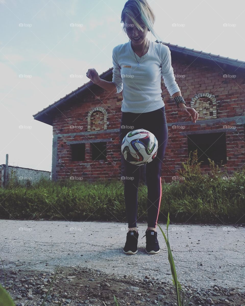
[[[201,93],[208,93],[214,96],[216,104],[212,103],[210,99],[200,98],[194,104],[198,108],[200,117],[195,124],[191,123],[191,118],[187,118],[177,110],[175,103],[172,102],[167,89],[162,80],[163,98],[166,108],[169,138],[168,146],[165,152],[164,164],[162,168],[162,181],[169,182],[172,177],[178,174],[178,169],[182,162],[188,159],[187,151],[187,136],[180,135],[179,132],[183,130],[174,129],[172,125],[181,125],[183,122],[190,122],[190,125],[185,125],[184,132],[190,131],[205,131],[205,130],[219,130],[224,129],[224,126],[236,126],[237,131],[233,130],[226,132],[227,139],[227,159],[228,171],[237,170],[244,164],[244,125],[238,125],[235,121],[225,121],[211,123],[207,118],[222,119],[235,116],[244,116],[245,108],[245,84],[244,77],[236,74],[236,78],[224,77],[224,71],[216,64],[208,66],[189,65],[183,62],[172,63],[176,75],[176,81],[181,89],[181,93],[187,103],[191,106],[191,100],[195,95]],[[180,75],[180,77],[178,76]],[[183,78],[181,75],[185,75]],[[57,159],[60,163],[57,166],[57,179],[71,175],[82,177],[81,179],[108,179],[121,177],[121,157],[119,146],[119,132],[109,133],[111,129],[119,129],[121,120],[121,101],[123,99],[122,92],[119,94],[108,95],[108,92],[94,86],[93,95],[89,91],[89,95],[84,97],[84,101],[70,107],[70,109],[63,110],[54,121],[53,133],[54,135],[67,134],[65,137],[58,136]],[[202,102],[205,101],[206,106],[212,109],[202,109]],[[199,104],[198,104],[199,103]],[[206,107],[205,106],[205,107]],[[98,134],[91,134],[86,136],[75,135],[68,136],[69,133],[88,132],[88,114],[96,107],[102,107],[107,112],[107,130],[104,130],[104,116],[102,112],[96,110],[92,113],[90,121],[91,128],[89,131],[104,132]],[[204,107],[204,106],[203,106]],[[216,115],[215,115],[215,111]],[[210,117],[208,117],[210,115]],[[201,120],[204,122],[200,123]],[[70,125],[76,126],[71,128]],[[107,160],[93,161],[91,159],[90,143],[86,143],[85,161],[71,161],[70,145],[66,141],[92,140],[112,138],[111,142],[107,143]],[[90,164],[90,165],[89,165]],[[207,165],[201,166],[203,171],[209,171]],[[225,170],[222,168],[222,170]]]

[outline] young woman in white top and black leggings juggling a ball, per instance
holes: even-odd
[[[130,40],[113,48],[112,82],[101,80],[93,68],[88,70],[87,76],[94,84],[110,92],[119,93],[123,90],[120,144],[122,144],[123,137],[134,129],[146,129],[152,132],[158,141],[155,159],[146,164],[148,228],[145,231],[145,251],[148,254],[156,254],[160,251],[156,223],[161,203],[161,166],[168,143],[168,126],[161,96],[161,75],[169,94],[175,99],[179,109],[184,114],[191,116],[194,123],[198,119],[198,113],[194,108],[187,107],[181,96],[171,66],[171,54],[168,46],[158,43],[158,41],[153,42],[146,37],[147,33],[151,31],[161,41],[153,30],[155,15],[148,2],[146,0],[128,0],[121,14],[121,22],[123,22],[123,30]],[[126,126],[129,129],[125,128]],[[124,165],[125,176],[131,179],[126,179],[124,184],[129,230],[123,252],[136,254],[139,236],[137,211],[140,169],[139,166],[125,160]]]

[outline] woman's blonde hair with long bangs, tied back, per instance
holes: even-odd
[[[123,31],[125,34],[126,29],[124,24],[126,17],[129,17],[141,31],[143,31],[143,28],[141,28],[140,23],[144,23],[157,40],[162,40],[153,29],[155,14],[146,0],[128,0],[125,3],[121,14],[121,22],[123,22]]]

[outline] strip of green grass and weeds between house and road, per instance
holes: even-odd
[[[168,212],[172,222],[232,223],[245,222],[245,168],[228,174],[210,161],[210,174],[203,174],[194,152],[183,163],[179,176],[183,180],[162,184],[159,222],[166,222]],[[124,184],[111,181],[89,183],[65,180],[42,180],[30,186],[10,182],[0,188],[0,218],[115,221],[127,222]],[[147,186],[138,189],[139,222],[147,220]]]

